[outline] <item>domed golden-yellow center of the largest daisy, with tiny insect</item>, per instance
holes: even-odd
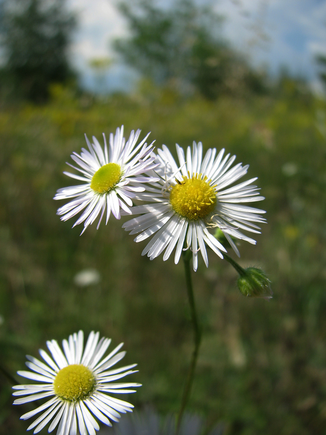
[[[195,220],[205,218],[210,214],[216,204],[215,186],[210,186],[207,177],[201,179],[202,174],[193,174],[190,178],[183,176],[183,181],[177,184],[170,192],[170,204],[173,210],[184,218]]]

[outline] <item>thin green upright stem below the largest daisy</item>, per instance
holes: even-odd
[[[176,435],[178,435],[180,431],[180,425],[183,417],[184,410],[186,408],[186,404],[189,400],[191,387],[193,385],[193,378],[195,374],[195,368],[196,363],[198,359],[198,353],[200,348],[200,341],[201,341],[201,330],[200,325],[197,319],[197,313],[196,313],[196,304],[195,304],[195,298],[193,295],[193,283],[191,280],[191,270],[190,270],[190,260],[191,260],[191,251],[183,251],[183,264],[185,269],[185,275],[186,275],[186,287],[187,287],[187,293],[188,293],[188,299],[189,299],[189,305],[190,305],[190,313],[191,313],[191,321],[193,324],[193,333],[194,333],[194,349],[193,349],[193,357],[190,363],[188,375],[186,378],[186,384],[183,388],[183,395],[180,405],[180,410],[177,418],[176,423]]]

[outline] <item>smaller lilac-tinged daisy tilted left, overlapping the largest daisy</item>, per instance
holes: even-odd
[[[79,167],[73,167],[81,175],[64,172],[69,177],[83,181],[78,186],[63,187],[59,189],[54,199],[73,199],[73,201],[60,207],[57,214],[61,216],[62,221],[67,221],[80,211],[83,213],[77,219],[75,225],[84,222],[84,229],[93,224],[100,214],[100,220],[97,228],[102,221],[106,209],[106,224],[110,218],[111,211],[116,219],[120,219],[120,209],[126,213],[131,213],[130,208],[133,205],[132,198],[136,192],[145,190],[141,184],[153,181],[152,177],[140,176],[146,171],[153,169],[154,156],[153,143],[147,145],[146,137],[136,146],[140,130],[130,133],[128,141],[125,143],[123,137],[123,126],[116,129],[116,135],[110,134],[109,150],[104,137],[104,152],[96,137],[93,136],[93,144],[87,139],[89,148],[87,151],[82,148],[79,154],[73,153],[71,158]]]

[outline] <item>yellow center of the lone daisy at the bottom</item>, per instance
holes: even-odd
[[[71,364],[62,368],[53,381],[55,394],[70,402],[90,395],[94,385],[93,373],[82,364]]]

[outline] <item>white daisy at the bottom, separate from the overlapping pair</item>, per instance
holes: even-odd
[[[110,338],[101,338],[99,332],[92,331],[83,351],[83,331],[63,340],[63,351],[56,340],[47,341],[47,352],[40,349],[40,355],[45,361],[27,355],[26,365],[32,371],[18,371],[18,375],[39,384],[16,385],[14,396],[24,396],[16,399],[14,405],[33,402],[34,400],[50,398],[43,405],[27,412],[20,418],[26,420],[43,412],[28,428],[34,429],[34,434],[50,423],[48,429],[52,432],[58,425],[57,435],[94,435],[99,425],[94,418],[111,426],[110,420],[118,422],[120,413],[132,411],[133,405],[123,400],[113,398],[107,393],[133,393],[129,388],[139,387],[134,382],[116,383],[138,370],[131,370],[136,364],[110,369],[126,352],[119,352],[123,343],[101,360],[110,345]],[[79,428],[79,432],[78,429]]]

